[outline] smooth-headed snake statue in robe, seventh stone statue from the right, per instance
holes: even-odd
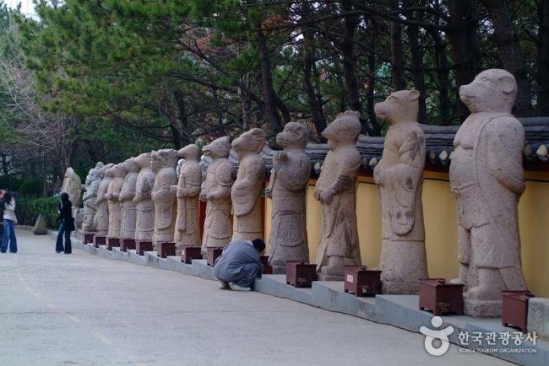
[[[177,196],[177,218],[174,242],[176,249],[182,245],[200,245],[198,224],[198,195],[202,184],[202,168],[198,163],[200,149],[189,144],[177,152],[185,162],[180,168],[177,185],[172,185],[172,193]]]

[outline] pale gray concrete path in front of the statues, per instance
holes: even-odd
[[[55,253],[16,229],[0,253],[0,365],[505,365],[425,337],[173,271]]]

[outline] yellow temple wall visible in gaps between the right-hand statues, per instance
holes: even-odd
[[[315,180],[307,190],[307,237],[309,260],[316,262],[320,240],[320,203],[313,197]],[[370,176],[357,179],[357,223],[362,264],[379,266],[381,218],[377,188]],[[526,191],[519,202],[519,230],[522,268],[528,289],[537,297],[549,297],[549,173],[526,172]],[[265,238],[270,235],[271,202],[265,205]],[[458,224],[456,203],[450,192],[448,174],[425,172],[423,181],[423,218],[429,277],[447,280],[458,276]]]

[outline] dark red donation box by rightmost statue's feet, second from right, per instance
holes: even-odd
[[[434,315],[463,314],[463,284],[447,284],[443,278],[420,279],[419,310],[432,311]]]

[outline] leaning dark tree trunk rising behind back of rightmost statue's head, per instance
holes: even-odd
[[[532,115],[532,97],[526,64],[520,51],[519,38],[513,30],[513,22],[505,0],[480,0],[490,13],[495,43],[503,67],[517,80],[517,101],[513,113],[519,117]]]

